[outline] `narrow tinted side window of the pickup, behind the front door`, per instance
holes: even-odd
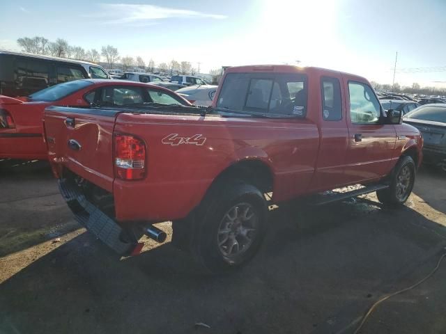
[[[341,84],[336,78],[321,79],[323,120],[342,119]]]

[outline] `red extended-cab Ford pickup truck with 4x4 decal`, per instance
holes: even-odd
[[[406,202],[420,132],[383,111],[369,82],[315,67],[226,70],[213,106],[45,109],[49,161],[77,220],[118,253],[138,253],[153,223],[211,271],[247,262],[268,205],[351,184],[320,202],[376,191]],[[267,194],[272,197],[267,196]]]

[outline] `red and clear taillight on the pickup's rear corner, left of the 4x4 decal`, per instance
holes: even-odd
[[[114,136],[116,176],[122,180],[140,180],[146,173],[146,145],[134,136]]]

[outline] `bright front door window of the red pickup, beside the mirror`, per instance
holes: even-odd
[[[380,118],[380,104],[370,86],[348,82],[350,118],[352,123],[376,124]]]

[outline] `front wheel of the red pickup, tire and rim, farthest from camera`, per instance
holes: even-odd
[[[403,205],[412,193],[415,173],[416,167],[412,157],[401,157],[389,175],[390,187],[376,191],[378,200],[385,205]],[[406,180],[407,184],[404,184]]]

